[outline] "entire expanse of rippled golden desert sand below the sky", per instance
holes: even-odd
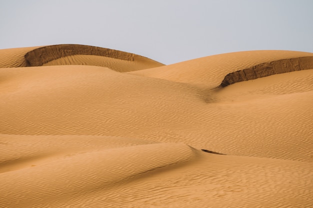
[[[0,207],[313,207],[313,53],[0,57]]]

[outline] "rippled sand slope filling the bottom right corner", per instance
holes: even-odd
[[[81,200],[93,207],[207,207],[211,203],[220,208],[311,206],[310,163],[196,152],[195,160],[178,165],[137,176],[123,188],[105,192],[105,198],[99,191]],[[297,188],[302,191],[293,192]]]

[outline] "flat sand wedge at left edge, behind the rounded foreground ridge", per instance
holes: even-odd
[[[0,172],[22,169],[72,155],[77,151],[100,151],[155,142],[137,138],[90,135],[0,134]]]

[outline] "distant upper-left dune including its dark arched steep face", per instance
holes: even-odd
[[[0,67],[96,65],[125,72],[164,64],[120,50],[79,44],[59,44],[0,50]]]

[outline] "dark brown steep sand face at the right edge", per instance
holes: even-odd
[[[313,56],[279,59],[271,62],[264,62],[249,68],[228,73],[218,87],[225,87],[236,82],[252,80],[273,74],[312,68]]]

